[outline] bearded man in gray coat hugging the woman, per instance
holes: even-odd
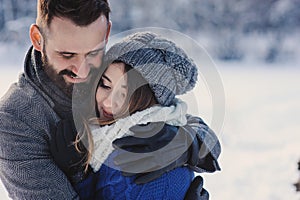
[[[106,0],[38,0],[37,9],[24,73],[0,101],[1,179],[12,199],[78,199],[69,177],[52,158],[50,141],[57,124],[72,119],[74,84],[88,82],[92,71],[101,66],[111,28],[110,8]],[[201,126],[211,134],[205,124]],[[219,143],[208,157],[198,159],[199,137],[193,138],[180,162],[144,179],[142,174],[140,182],[183,164],[195,170],[218,170]],[[130,141],[124,138],[118,144]],[[200,166],[205,159],[211,165]],[[192,196],[187,198],[206,199],[201,189],[202,180],[195,179],[189,190]]]

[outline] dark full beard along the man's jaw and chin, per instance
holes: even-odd
[[[45,49],[45,48],[44,48]],[[68,97],[72,97],[73,86],[72,83],[66,83],[63,75],[68,73],[68,70],[62,70],[60,72],[56,72],[54,66],[49,63],[47,54],[45,50],[43,50],[42,56],[43,69],[48,77],[53,81],[53,83],[59,87],[59,89],[66,94]]]

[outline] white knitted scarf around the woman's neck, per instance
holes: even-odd
[[[91,125],[91,131],[94,141],[94,152],[90,165],[96,172],[112,153],[114,147],[112,141],[127,135],[133,135],[130,127],[137,124],[147,124],[148,122],[165,122],[173,126],[184,126],[186,119],[187,104],[176,99],[175,105],[169,107],[153,106],[131,116],[117,120],[115,123],[106,126]]]

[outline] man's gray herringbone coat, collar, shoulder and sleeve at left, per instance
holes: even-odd
[[[44,74],[40,57],[31,47],[24,73],[0,100],[1,180],[12,199],[78,199],[49,149],[60,119],[53,108],[64,113],[70,99]]]

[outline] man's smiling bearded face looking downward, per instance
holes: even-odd
[[[70,94],[74,83],[86,82],[91,69],[100,67],[108,33],[104,16],[85,27],[54,17],[44,34],[42,60],[45,72]]]

